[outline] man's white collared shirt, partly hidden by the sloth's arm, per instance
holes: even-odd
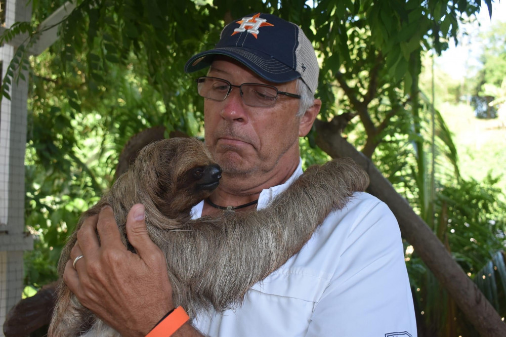
[[[266,207],[302,174],[262,191]],[[305,205],[301,205],[303,207]],[[193,209],[202,214],[203,202]],[[202,313],[209,336],[413,337],[416,321],[397,221],[388,206],[357,192],[331,213],[306,245],[255,284],[242,306]]]

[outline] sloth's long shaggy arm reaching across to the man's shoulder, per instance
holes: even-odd
[[[367,176],[343,160],[307,170],[269,207],[257,212],[195,220],[213,223],[215,251],[202,289],[223,310],[296,254],[332,209],[342,208],[354,191],[364,190]],[[219,224],[221,223],[221,225]],[[198,254],[198,253],[197,253]],[[230,299],[227,294],[240,294]]]

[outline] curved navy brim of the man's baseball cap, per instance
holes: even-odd
[[[269,55],[262,55],[258,51],[247,50],[243,47],[223,47],[199,53],[186,62],[185,71],[189,73],[208,67],[216,55],[231,57],[260,77],[274,83],[288,82],[301,77],[297,71]]]

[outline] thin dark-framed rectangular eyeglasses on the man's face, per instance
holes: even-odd
[[[253,107],[273,106],[276,104],[278,95],[301,98],[300,95],[278,91],[278,88],[274,86],[260,83],[242,83],[240,86],[234,86],[229,81],[222,78],[209,76],[197,78],[198,94],[203,98],[213,101],[224,101],[232,91],[232,88],[239,88],[244,104]]]

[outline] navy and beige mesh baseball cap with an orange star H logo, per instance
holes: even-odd
[[[216,55],[231,57],[274,83],[300,77],[313,94],[318,87],[320,69],[311,42],[298,25],[271,14],[232,21],[223,28],[215,48],[191,57],[185,71],[208,67]]]

